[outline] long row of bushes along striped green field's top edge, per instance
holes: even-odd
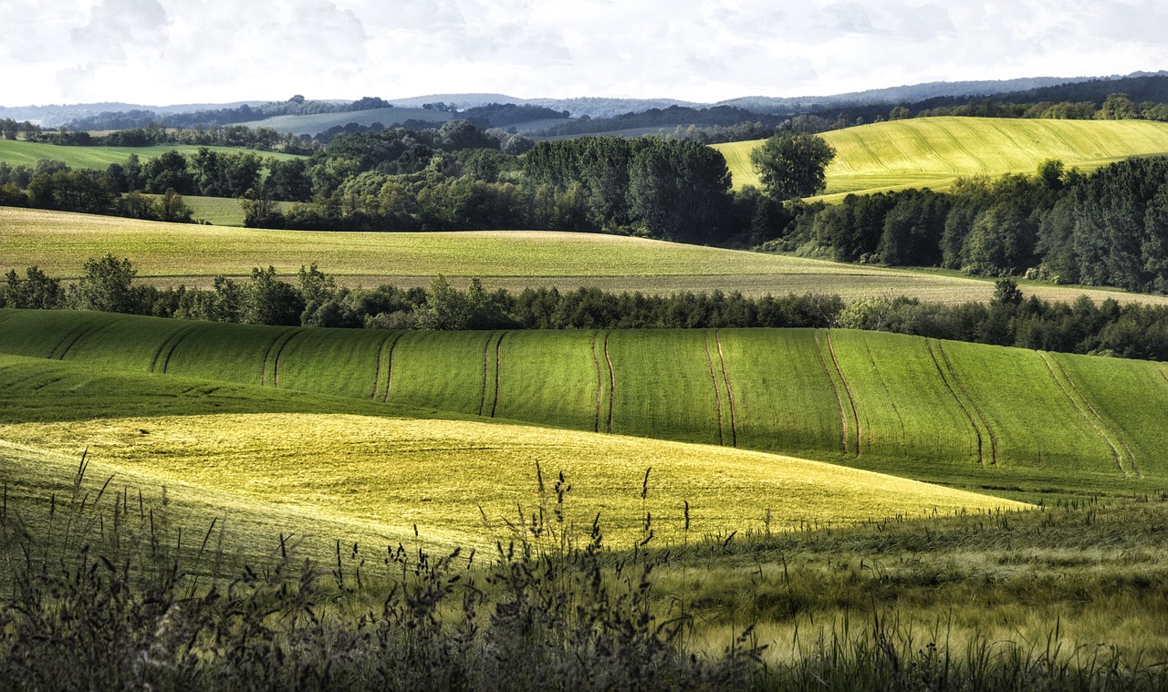
[[[1096,303],[1024,298],[1009,279],[988,302],[945,305],[911,298],[739,292],[654,295],[582,287],[487,291],[443,277],[427,288],[348,288],[315,265],[293,281],[253,268],[243,280],[216,277],[210,288],[135,284],[128,259],[89,259],[76,282],[37,267],[15,270],[0,285],[0,308],[86,309],[216,322],[367,329],[716,329],[750,327],[848,328],[891,331],[1047,351],[1168,361],[1168,307],[1114,299]]]

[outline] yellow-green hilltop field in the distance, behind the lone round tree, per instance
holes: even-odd
[[[826,198],[905,188],[945,189],[961,176],[1033,174],[1047,159],[1068,168],[1168,153],[1168,123],[1146,120],[1031,120],[915,118],[820,134],[835,147]],[[758,141],[715,145],[736,188],[758,184],[750,151]]]

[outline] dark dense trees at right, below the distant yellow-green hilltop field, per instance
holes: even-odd
[[[1030,176],[966,179],[947,193],[850,195],[842,204],[792,204],[784,212],[763,249],[1168,292],[1164,156],[1090,175],[1050,160]]]

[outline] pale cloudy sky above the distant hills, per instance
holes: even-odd
[[[823,96],[1168,69],[1162,0],[4,0],[0,105]]]

